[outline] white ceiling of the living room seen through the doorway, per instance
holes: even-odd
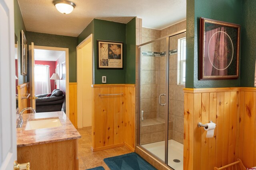
[[[41,50],[34,49],[35,60],[39,61],[57,61],[58,58],[65,53],[65,51],[54,51],[54,50]]]

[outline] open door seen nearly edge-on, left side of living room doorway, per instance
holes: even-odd
[[[35,51],[34,43],[29,45],[29,65],[30,65],[30,107],[36,110],[36,98],[35,98],[35,83],[34,83],[34,68],[35,68]]]

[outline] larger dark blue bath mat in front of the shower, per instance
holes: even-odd
[[[111,170],[156,170],[135,152],[105,158],[104,162]]]

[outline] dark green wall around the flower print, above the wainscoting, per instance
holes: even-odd
[[[91,33],[94,46],[94,84],[102,84],[102,76],[106,76],[106,84],[135,84],[135,50],[136,50],[136,23],[135,18],[127,24],[106,20],[94,19],[78,35],[79,45]],[[132,35],[134,34],[134,35]],[[123,69],[98,69],[97,68],[97,40],[118,41],[123,43]],[[129,44],[127,47],[126,44]],[[127,51],[127,49],[129,51]],[[129,64],[129,65],[128,65]],[[129,73],[128,73],[129,72]],[[126,77],[128,75],[128,79]]]

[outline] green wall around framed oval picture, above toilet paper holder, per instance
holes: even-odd
[[[187,0],[186,88],[239,87],[236,80],[198,80],[199,18],[242,24],[242,0]]]

